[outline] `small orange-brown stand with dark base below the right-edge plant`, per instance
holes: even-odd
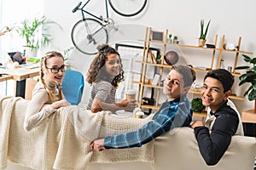
[[[254,110],[242,111],[241,122],[245,135],[256,137],[256,113]]]

